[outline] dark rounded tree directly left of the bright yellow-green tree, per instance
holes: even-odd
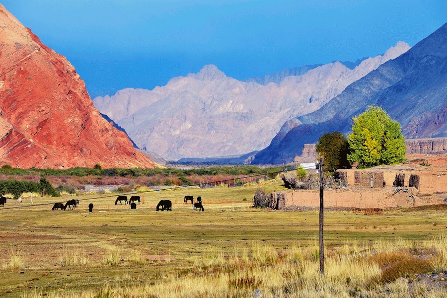
[[[348,139],[340,132],[322,135],[318,140],[316,151],[324,158],[326,170],[346,169],[351,166],[348,161]]]

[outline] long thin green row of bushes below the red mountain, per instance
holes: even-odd
[[[268,167],[260,168],[252,165],[240,165],[240,166],[225,166],[225,167],[206,167],[197,169],[177,169],[177,168],[155,168],[155,169],[122,169],[122,168],[110,168],[102,169],[99,166],[95,168],[75,167],[71,169],[20,169],[12,168],[8,165],[3,165],[0,169],[0,174],[3,175],[41,175],[41,176],[189,176],[189,175],[254,175],[254,174],[266,174],[271,172],[277,172],[281,168]]]

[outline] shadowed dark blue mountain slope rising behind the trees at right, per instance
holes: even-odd
[[[447,130],[447,24],[405,54],[349,85],[321,109],[284,124],[253,163],[291,162],[325,132],[350,131],[352,116],[377,104],[399,121],[407,138]]]

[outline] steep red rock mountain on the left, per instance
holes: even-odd
[[[101,117],[82,79],[0,4],[0,163],[155,167]]]

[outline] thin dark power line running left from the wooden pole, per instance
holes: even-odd
[[[230,179],[225,179],[225,180],[219,180],[219,181],[213,181],[213,182],[203,182],[203,183],[196,183],[196,184],[191,184],[191,185],[179,185],[179,186],[174,186],[174,187],[169,187],[169,188],[164,188],[164,189],[151,189],[151,190],[146,190],[146,191],[140,191],[140,192],[132,192],[132,193],[125,193],[125,194],[120,194],[120,196],[127,196],[127,195],[135,195],[135,194],[143,194],[143,193],[150,193],[150,192],[157,192],[157,191],[163,191],[163,190],[172,190],[172,189],[180,189],[180,188],[188,188],[188,187],[192,187],[192,186],[201,186],[203,184],[217,184],[217,183],[223,183],[223,182],[228,182],[228,181],[233,181],[233,180],[239,180],[239,179],[247,179],[247,178],[254,178],[254,177],[260,177],[260,176],[267,176],[267,175],[274,175],[274,174],[279,174],[279,173],[284,173],[284,172],[290,172],[290,171],[294,171],[297,170],[298,168],[300,168],[299,166],[292,168],[292,169],[284,169],[281,171],[277,171],[277,172],[270,172],[270,173],[263,173],[263,174],[256,174],[256,175],[250,175],[250,176],[244,176],[244,177],[237,177],[237,178],[230,178]],[[309,166],[309,167],[302,167],[305,170],[310,170],[310,169],[315,169],[315,166]],[[114,198],[116,197],[115,195],[109,195],[109,196],[101,196],[101,197],[94,197],[94,198],[85,198],[85,199],[80,199],[78,201],[90,201],[90,200],[99,200],[99,199],[105,199],[105,198]],[[33,205],[24,205],[24,206],[14,206],[14,207],[6,207],[6,208],[1,208],[0,211],[2,210],[8,210],[8,209],[18,209],[18,208],[29,208],[29,207],[36,207],[36,206],[46,206],[46,205],[53,205],[55,202],[52,203],[41,203],[41,204],[33,204]]]

